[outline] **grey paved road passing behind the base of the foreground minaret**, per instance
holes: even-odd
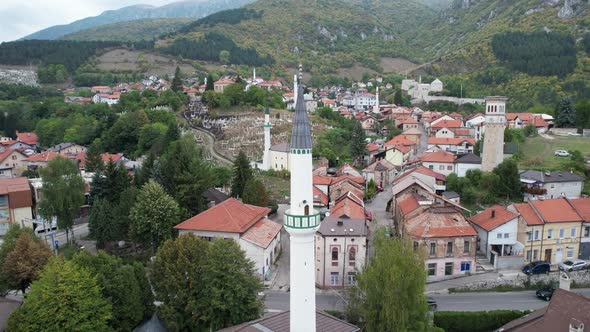
[[[576,293],[590,297],[590,289],[574,289]],[[289,293],[268,291],[267,310],[289,310]],[[484,311],[484,310],[536,310],[548,302],[535,297],[534,291],[506,293],[461,293],[431,295],[438,304],[439,311]],[[316,294],[316,306],[320,310],[343,310],[344,299],[336,292]]]

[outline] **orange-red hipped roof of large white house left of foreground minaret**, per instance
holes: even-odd
[[[244,233],[260,219],[268,215],[269,208],[244,204],[230,198],[209,210],[176,225],[176,229]]]

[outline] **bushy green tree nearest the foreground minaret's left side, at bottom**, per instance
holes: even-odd
[[[262,315],[258,298],[262,283],[254,275],[254,263],[235,241],[217,239],[209,246],[205,288],[209,329],[216,331]]]

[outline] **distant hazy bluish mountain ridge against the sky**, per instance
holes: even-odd
[[[161,7],[148,5],[128,6],[107,10],[94,17],[87,17],[70,24],[56,25],[40,30],[23,39],[57,39],[78,31],[98,26],[146,18],[189,17],[201,18],[221,10],[237,8],[254,0],[186,0]]]

